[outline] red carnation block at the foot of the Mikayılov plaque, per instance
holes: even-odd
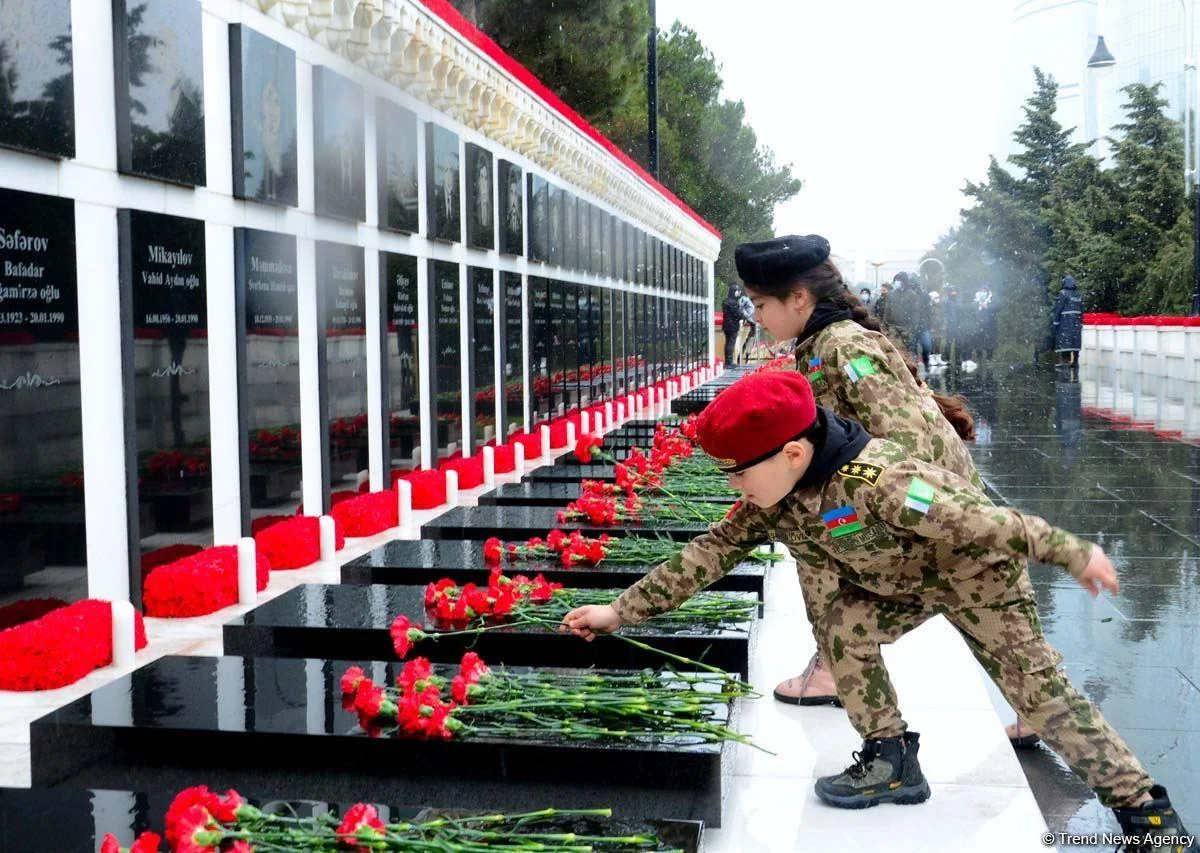
[[[257,588],[266,589],[271,564],[259,553]],[[192,557],[161,565],[142,590],[146,615],[184,618],[215,613],[238,603],[238,546],[206,548]]]

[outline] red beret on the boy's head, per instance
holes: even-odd
[[[812,386],[796,371],[762,371],[716,395],[696,425],[696,440],[724,471],[739,471],[778,453],[817,418]]]

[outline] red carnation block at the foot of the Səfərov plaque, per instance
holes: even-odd
[[[134,614],[136,648],[145,648]],[[0,690],[55,690],[113,662],[113,606],[89,599],[0,631]]]

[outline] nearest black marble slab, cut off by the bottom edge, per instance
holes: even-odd
[[[214,791],[227,791],[221,780],[210,781]],[[112,834],[121,847],[128,847],[146,830],[163,833],[167,809],[179,792],[173,788],[156,791],[66,789],[66,788],[0,788],[0,839],[5,849],[17,853],[47,849],[47,816],[53,816],[55,853],[96,853],[104,835]],[[353,803],[319,800],[264,800],[239,791],[251,805],[268,815],[341,817]],[[424,822],[436,819],[442,810],[426,806],[376,804],[385,823],[397,821]],[[462,815],[463,812],[455,812]],[[490,813],[490,812],[488,812]],[[583,828],[572,827],[578,834],[625,835],[649,833],[667,846],[688,853],[700,849],[703,823],[700,821],[653,821],[643,818],[588,819]],[[161,849],[167,849],[166,845]]]

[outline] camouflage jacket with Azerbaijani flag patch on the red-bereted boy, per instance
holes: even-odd
[[[767,509],[738,505],[613,606],[625,624],[673,609],[769,541],[782,542],[802,571],[828,564],[876,595],[952,609],[1018,587],[1026,558],[1078,576],[1092,553],[1090,542],[996,506],[961,476],[876,438],[821,485]]]

